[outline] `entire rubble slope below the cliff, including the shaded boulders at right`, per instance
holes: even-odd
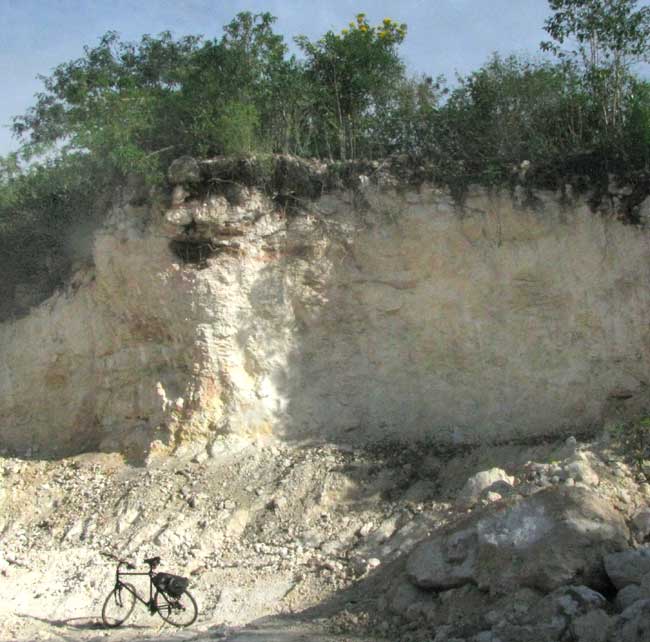
[[[96,636],[102,551],[188,575],[197,639],[277,614],[368,640],[649,639],[650,484],[606,441],[222,436],[146,466],[8,458],[0,474],[2,640]],[[127,638],[152,632],[133,622]]]

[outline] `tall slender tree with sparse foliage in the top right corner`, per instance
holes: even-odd
[[[623,127],[631,67],[648,60],[650,8],[637,5],[638,0],[549,0],[554,14],[544,23],[553,41],[542,49],[578,66],[609,138]],[[565,43],[573,49],[563,51]]]

